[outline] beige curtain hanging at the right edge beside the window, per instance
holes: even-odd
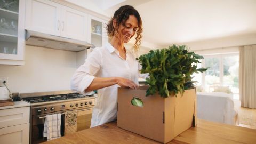
[[[256,108],[256,45],[239,47],[239,97],[241,107]]]

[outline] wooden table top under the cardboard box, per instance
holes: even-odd
[[[158,143],[138,134],[120,129],[110,122],[91,129],[66,135],[46,143]],[[256,130],[227,124],[197,120],[197,127],[190,127],[169,143],[256,143]]]

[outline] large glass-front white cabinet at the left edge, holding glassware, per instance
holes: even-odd
[[[23,65],[25,0],[0,0],[0,64]]]

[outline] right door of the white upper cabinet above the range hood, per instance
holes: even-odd
[[[87,41],[87,14],[62,6],[61,36]]]

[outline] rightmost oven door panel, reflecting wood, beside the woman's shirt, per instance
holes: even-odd
[[[77,132],[84,129],[89,129],[91,126],[93,107],[86,107],[77,110]]]

